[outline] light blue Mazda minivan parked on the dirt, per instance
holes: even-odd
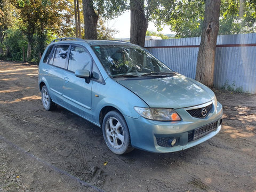
[[[38,81],[46,110],[59,105],[102,127],[115,154],[183,150],[221,129],[222,106],[208,87],[130,43],[55,39]]]

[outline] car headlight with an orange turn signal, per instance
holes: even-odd
[[[134,107],[142,117],[155,121],[180,121],[180,116],[173,109]]]

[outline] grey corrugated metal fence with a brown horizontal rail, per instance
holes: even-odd
[[[146,41],[145,47],[167,66],[191,78],[201,37]],[[221,35],[217,39],[214,86],[256,93],[256,34]]]

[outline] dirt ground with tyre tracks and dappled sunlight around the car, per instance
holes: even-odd
[[[256,95],[214,90],[222,130],[169,154],[118,156],[101,129],[58,107],[45,111],[37,66],[0,61],[0,191],[256,192]]]

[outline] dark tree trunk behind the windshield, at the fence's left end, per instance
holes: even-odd
[[[145,17],[144,1],[130,0],[131,7],[131,29],[130,42],[145,46],[145,37],[148,29],[148,21]]]

